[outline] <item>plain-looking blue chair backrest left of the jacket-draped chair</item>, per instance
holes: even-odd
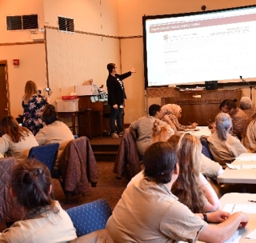
[[[59,143],[35,146],[30,149],[28,157],[41,161],[50,169],[50,172],[52,172],[54,169],[54,162],[58,155],[58,147]]]

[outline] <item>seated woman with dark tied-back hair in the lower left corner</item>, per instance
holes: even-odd
[[[0,234],[1,242],[69,242],[77,238],[66,211],[50,198],[51,177],[46,165],[34,159],[15,165],[10,186],[25,217]]]

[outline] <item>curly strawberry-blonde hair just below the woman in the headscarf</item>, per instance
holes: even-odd
[[[152,128],[151,143],[157,141],[167,141],[167,139],[174,134],[174,129],[170,125],[160,125],[159,119],[154,121]]]

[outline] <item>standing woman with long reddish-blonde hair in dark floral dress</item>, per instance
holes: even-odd
[[[42,129],[42,111],[46,104],[48,104],[46,100],[38,94],[35,82],[26,82],[25,94],[22,100],[23,125],[30,129],[34,135]]]

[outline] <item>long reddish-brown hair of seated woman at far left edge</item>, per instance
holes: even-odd
[[[13,116],[5,116],[1,120],[2,133],[8,134],[15,143],[25,140],[29,136],[30,130],[18,125],[18,121]]]

